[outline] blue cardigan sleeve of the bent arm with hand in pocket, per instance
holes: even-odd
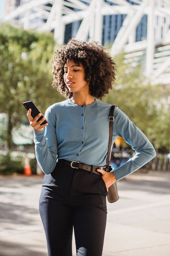
[[[119,108],[115,109],[113,136],[123,138],[136,153],[122,166],[112,171],[118,181],[156,156],[155,149],[145,134]]]

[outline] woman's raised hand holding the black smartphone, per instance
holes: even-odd
[[[48,123],[46,123],[46,124],[44,124],[44,125],[40,125],[40,124],[42,124],[42,123],[44,122],[44,120],[46,119],[45,117],[43,117],[41,120],[39,120],[39,121],[37,122],[38,118],[39,118],[41,115],[42,115],[42,114],[39,113],[36,117],[33,118],[33,117],[31,116],[31,109],[29,109],[29,111],[28,111],[28,113],[27,113],[28,119],[29,119],[29,121],[30,121],[30,125],[31,125],[31,127],[32,127],[35,131],[42,131],[43,128],[48,125]]]

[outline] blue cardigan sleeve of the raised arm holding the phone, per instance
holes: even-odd
[[[43,131],[34,130],[35,155],[41,170],[49,174],[56,166],[57,137],[56,121],[49,109],[45,113],[48,126]]]

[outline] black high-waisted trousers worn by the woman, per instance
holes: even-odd
[[[77,256],[101,256],[107,189],[101,176],[57,163],[45,175],[39,200],[48,255],[71,256],[74,227]]]

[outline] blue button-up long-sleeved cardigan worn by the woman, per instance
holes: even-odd
[[[44,131],[34,131],[36,158],[43,172],[51,173],[57,158],[104,166],[110,108],[110,104],[96,99],[89,105],[77,105],[70,99],[51,105],[45,113],[49,125]],[[136,152],[122,166],[113,170],[116,179],[120,180],[145,165],[156,154],[147,137],[118,107],[114,116],[112,143],[119,136]]]

